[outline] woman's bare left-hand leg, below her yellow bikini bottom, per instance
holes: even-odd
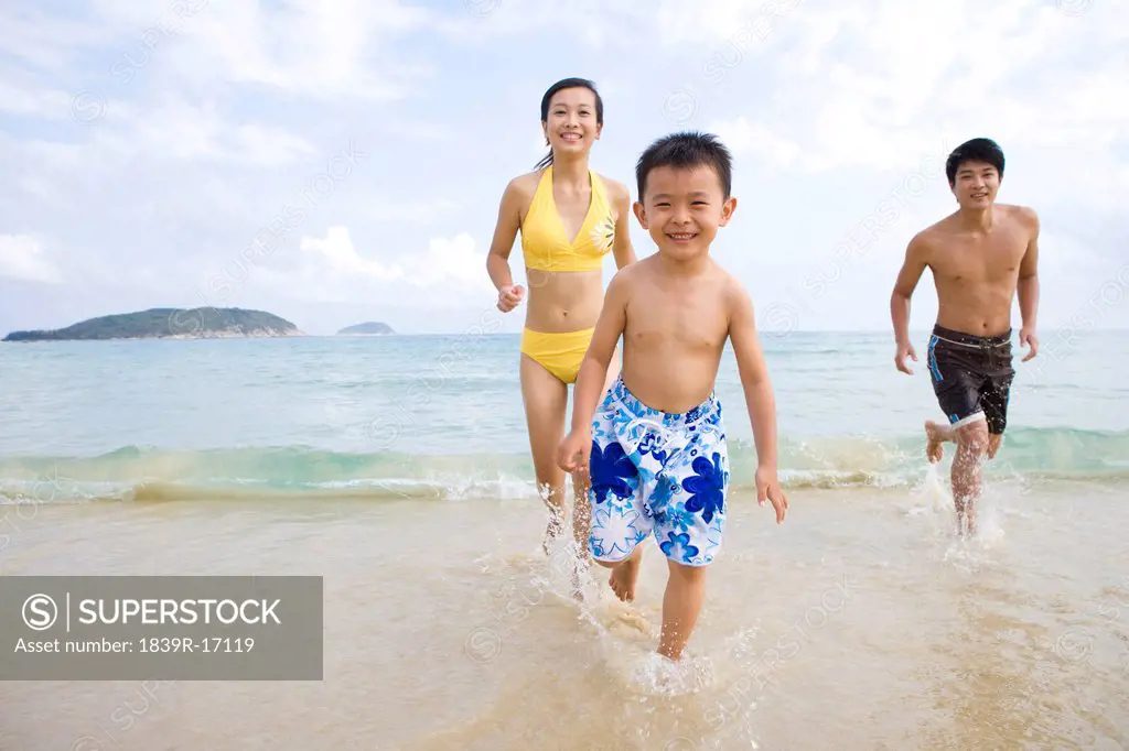
[[[543,542],[548,555],[550,546],[564,529],[564,471],[557,466],[557,448],[564,438],[568,387],[524,353],[520,376],[537,493],[550,511]]]

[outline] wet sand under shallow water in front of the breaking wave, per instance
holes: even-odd
[[[324,680],[5,682],[0,748],[1123,749],[1126,489],[997,481],[971,541],[935,477],[736,494],[676,671],[654,542],[578,603],[536,501],[44,504],[0,573],[324,575]]]

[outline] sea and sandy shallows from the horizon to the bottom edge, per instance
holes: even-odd
[[[926,332],[912,377],[886,333],[762,334],[779,527],[727,352],[676,670],[654,542],[631,604],[541,551],[517,335],[0,345],[0,573],[325,577],[323,681],[0,682],[0,749],[1126,748],[1129,335],[1043,336],[971,540]]]

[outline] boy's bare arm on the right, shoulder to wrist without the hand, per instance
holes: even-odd
[[[772,380],[756,334],[753,302],[749,293],[733,280],[728,294],[729,341],[737,359],[741,385],[745,391],[749,419],[756,444],[756,462],[761,467],[777,468],[776,397]]]

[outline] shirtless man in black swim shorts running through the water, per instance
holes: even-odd
[[[975,501],[987,454],[999,450],[1007,426],[1012,366],[1012,301],[1018,294],[1023,318],[1019,344],[1039,352],[1039,218],[1026,206],[996,203],[1004,177],[1004,152],[989,139],[957,147],[945,165],[959,209],[910,240],[894,283],[890,311],[903,373],[917,353],[909,341],[910,297],[929,267],[937,288],[937,321],[929,338],[934,394],[947,425],[927,421],[926,454],[940,461],[943,443],[956,443],[953,503],[960,531],[975,532]]]

